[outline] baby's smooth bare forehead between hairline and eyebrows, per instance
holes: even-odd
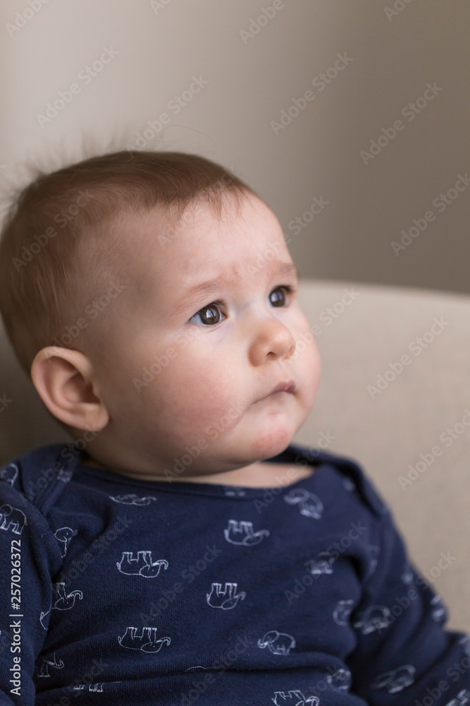
[[[128,211],[113,230],[122,246],[120,258],[129,267],[148,270],[153,265],[162,274],[191,275],[192,264],[204,270],[212,265],[218,274],[216,270],[233,258],[250,261],[266,250],[266,258],[289,258],[276,215],[253,195],[236,198],[228,193],[220,201],[198,198],[183,205]]]

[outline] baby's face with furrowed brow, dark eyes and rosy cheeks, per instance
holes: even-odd
[[[141,474],[177,465],[182,479],[272,457],[314,403],[319,356],[280,224],[254,196],[239,215],[233,197],[226,205],[220,219],[192,204],[177,229],[159,210],[121,222],[135,240],[131,305],[100,392],[116,450],[132,450]]]

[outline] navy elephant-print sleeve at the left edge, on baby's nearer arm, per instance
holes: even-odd
[[[61,553],[43,515],[11,477],[0,481],[0,702],[35,703],[35,661],[47,634],[51,575]]]

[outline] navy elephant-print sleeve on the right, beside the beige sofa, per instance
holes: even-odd
[[[438,566],[452,561],[442,554]],[[370,706],[470,704],[470,641],[443,628],[445,606],[412,567],[390,513],[361,604],[351,616],[357,647],[347,664],[352,691]]]

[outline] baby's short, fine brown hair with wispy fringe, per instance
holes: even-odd
[[[221,165],[183,152],[126,150],[39,172],[11,203],[0,240],[0,313],[26,373],[44,347],[82,349],[88,329],[71,344],[63,334],[125,273],[133,246],[121,215],[160,207],[176,222],[203,199],[220,216],[226,193],[256,196]],[[101,333],[107,323],[100,316]]]

